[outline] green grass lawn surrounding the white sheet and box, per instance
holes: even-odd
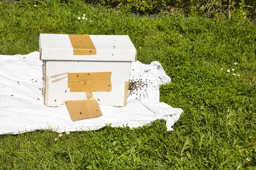
[[[92,23],[77,20],[83,13]],[[73,132],[56,142],[51,131],[2,135],[0,169],[256,169],[256,25],[250,21],[136,17],[81,3],[0,3],[0,54],[38,51],[40,33],[128,34],[138,59],[159,61],[172,78],[160,88],[161,102],[184,113],[171,132],[157,120],[134,130]],[[232,68],[240,77],[227,73]]]

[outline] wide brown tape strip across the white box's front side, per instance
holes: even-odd
[[[112,91],[112,72],[68,73],[67,87],[70,92]]]

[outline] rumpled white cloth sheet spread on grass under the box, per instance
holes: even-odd
[[[166,120],[167,130],[173,130],[172,126],[183,110],[159,102],[159,86],[170,83],[171,78],[165,74],[159,62],[151,62],[150,65],[133,62],[131,79],[141,78],[144,81],[147,79],[148,87],[128,96],[125,107],[101,105],[102,116],[72,122],[65,105],[57,108],[44,106],[44,98],[39,90],[43,87],[39,52],[0,55],[0,135],[46,129],[61,132],[97,130],[106,124],[134,128],[156,119]]]

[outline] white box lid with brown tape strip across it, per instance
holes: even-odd
[[[128,35],[40,34],[41,60],[136,61]]]

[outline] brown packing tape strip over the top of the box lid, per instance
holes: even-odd
[[[69,34],[74,55],[96,55],[96,48],[90,35],[74,35]]]

